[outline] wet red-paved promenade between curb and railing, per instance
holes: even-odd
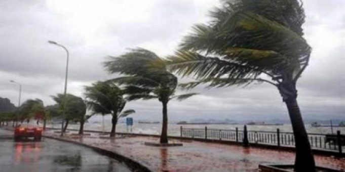
[[[47,132],[47,135],[58,134]],[[292,164],[294,153],[289,151],[243,148],[237,145],[180,141],[170,139],[171,143],[183,143],[178,147],[146,146],[144,142],[159,142],[155,137],[119,137],[99,139],[91,136],[65,136],[65,139],[107,149],[129,157],[152,171],[258,171],[260,163]],[[345,158],[315,156],[317,165],[345,170]]]

